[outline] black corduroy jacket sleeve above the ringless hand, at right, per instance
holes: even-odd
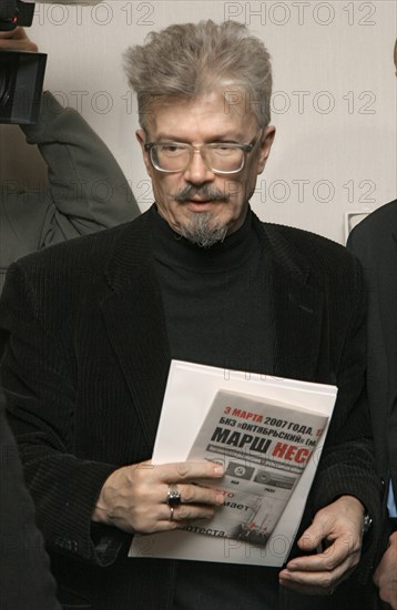
[[[365,581],[374,563],[381,532],[384,487],[375,467],[365,386],[366,292],[357,262],[353,294],[355,298],[343,337],[343,348],[335,366],[337,400],[309,497],[309,507],[313,516],[319,508],[343,495],[355,496],[365,506],[373,519],[371,529],[364,539],[363,559],[357,570],[357,576]]]

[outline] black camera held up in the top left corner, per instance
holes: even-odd
[[[0,31],[32,24],[34,4],[0,0]],[[0,123],[38,121],[47,54],[0,50]]]

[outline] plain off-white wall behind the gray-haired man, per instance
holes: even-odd
[[[396,7],[395,0],[37,4],[30,35],[49,53],[45,87],[104,139],[146,210],[152,196],[123,51],[173,22],[245,22],[273,57],[277,128],[253,209],[263,220],[343,242],[346,211],[376,209],[397,193]],[[28,154],[18,128],[1,128],[0,150],[2,177],[42,180],[43,166]]]

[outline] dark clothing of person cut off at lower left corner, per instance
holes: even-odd
[[[0,608],[60,610],[55,581],[0,393]]]

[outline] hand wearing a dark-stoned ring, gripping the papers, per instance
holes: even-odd
[[[224,468],[212,462],[125,466],[104,482],[92,520],[124,531],[153,533],[186,526],[194,519],[210,519],[223,495],[191,481],[223,477]],[[171,510],[169,485],[176,484],[182,504]]]

